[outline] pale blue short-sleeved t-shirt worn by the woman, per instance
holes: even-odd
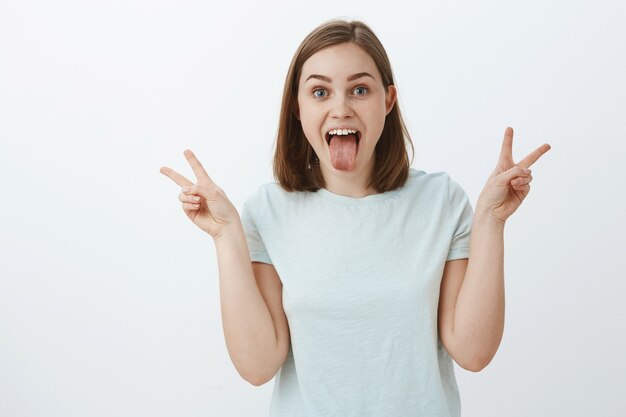
[[[460,416],[437,307],[445,262],[469,257],[472,217],[447,173],[414,168],[362,198],[276,182],[248,197],[250,258],[278,272],[291,333],[270,416]]]

